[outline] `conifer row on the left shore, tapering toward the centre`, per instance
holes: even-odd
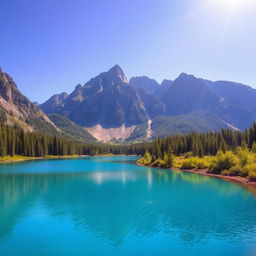
[[[0,123],[0,157],[21,155],[43,157],[47,155],[100,155],[137,154],[137,146],[111,145],[103,143],[82,143],[62,136],[51,136],[38,132],[24,132],[23,129]]]

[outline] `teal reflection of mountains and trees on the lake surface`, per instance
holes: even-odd
[[[209,236],[239,240],[245,234],[255,234],[256,200],[237,185],[127,163],[114,166],[114,171],[107,169],[2,173],[0,239],[21,219],[30,218],[38,202],[47,214],[69,218],[77,230],[114,245],[122,244],[127,236],[147,237],[159,232],[178,235],[186,243]]]

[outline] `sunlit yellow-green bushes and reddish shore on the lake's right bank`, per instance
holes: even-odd
[[[246,147],[238,147],[235,151],[220,150],[215,156],[204,157],[195,157],[189,152],[181,156],[166,153],[163,158],[156,159],[146,152],[137,163],[256,184],[256,153]]]

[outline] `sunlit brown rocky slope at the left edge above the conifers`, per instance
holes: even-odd
[[[20,93],[13,79],[0,69],[0,121],[25,130],[57,132],[49,118]]]

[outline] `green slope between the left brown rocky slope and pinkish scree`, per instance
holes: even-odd
[[[49,114],[48,117],[59,129],[70,137],[81,141],[96,141],[85,128],[71,122],[69,119],[57,114]]]

